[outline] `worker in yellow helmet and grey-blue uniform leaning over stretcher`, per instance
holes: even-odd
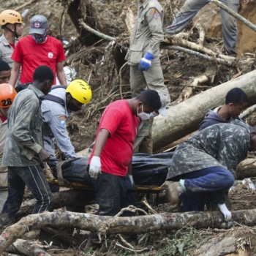
[[[53,138],[64,159],[78,158],[66,128],[66,120],[71,111],[78,111],[91,101],[91,88],[83,80],[73,80],[67,88],[53,86],[50,93],[42,99],[44,118],[44,147],[50,153],[48,165],[56,169],[58,159],[55,154]]]

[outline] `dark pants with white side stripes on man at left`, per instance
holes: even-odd
[[[52,207],[53,194],[40,165],[8,167],[8,197],[1,213],[9,219],[20,209],[25,185],[37,199],[32,214],[49,211]]]

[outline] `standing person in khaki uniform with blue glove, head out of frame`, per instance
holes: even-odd
[[[164,84],[159,54],[160,42],[164,39],[162,23],[164,12],[157,0],[141,0],[138,16],[129,45],[126,59],[130,65],[130,85],[132,97],[146,89],[161,91],[165,95],[166,106],[170,105],[170,94]],[[153,153],[151,120],[143,122],[143,143],[140,153]]]

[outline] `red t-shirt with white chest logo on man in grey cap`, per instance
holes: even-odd
[[[56,84],[56,64],[66,59],[61,42],[47,36],[47,41],[37,44],[33,37],[27,36],[19,40],[12,53],[12,60],[22,64],[20,83],[33,81],[34,70],[42,65],[46,65],[53,70],[54,83]]]

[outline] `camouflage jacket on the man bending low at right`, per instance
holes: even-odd
[[[238,163],[246,159],[249,147],[248,124],[236,119],[230,124],[214,124],[176,148],[166,179],[209,167],[224,167],[234,174]],[[219,190],[212,197],[216,203],[225,203],[227,192]]]

